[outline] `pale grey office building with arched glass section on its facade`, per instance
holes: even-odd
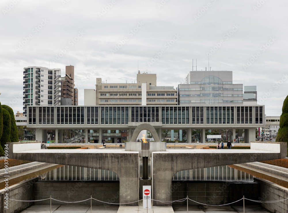
[[[243,105],[243,84],[232,83],[232,71],[191,71],[178,85],[178,104]]]

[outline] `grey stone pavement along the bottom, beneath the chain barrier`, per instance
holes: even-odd
[[[52,205],[53,213],[90,213],[89,205]],[[186,206],[153,206],[151,213],[186,213]],[[22,213],[50,213],[50,205],[34,205]],[[143,213],[139,206],[92,205],[92,213]],[[243,213],[242,206],[188,206],[188,213]],[[261,206],[245,206],[245,213],[270,213]]]

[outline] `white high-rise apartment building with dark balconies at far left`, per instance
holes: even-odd
[[[41,66],[24,67],[23,72],[23,115],[27,106],[60,105],[61,69]]]

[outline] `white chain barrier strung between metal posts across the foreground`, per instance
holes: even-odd
[[[46,199],[41,199],[41,200],[16,200],[16,199],[10,199],[8,198],[9,200],[13,200],[13,201],[20,201],[20,202],[36,202],[36,201],[43,201],[43,200],[49,200],[50,198],[46,198]],[[63,203],[81,203],[81,202],[84,202],[84,201],[87,201],[87,200],[90,200],[90,199],[93,199],[93,200],[96,200],[96,201],[99,201],[99,202],[102,202],[102,203],[105,203],[105,204],[114,204],[114,205],[121,205],[121,204],[115,204],[115,203],[109,203],[109,202],[105,202],[105,201],[101,201],[101,200],[97,200],[93,197],[91,198],[88,198],[86,200],[81,200],[81,201],[61,201],[61,200],[56,200],[54,198],[51,198],[52,200],[55,200],[55,201],[59,201],[59,202],[63,202]],[[241,198],[240,200],[243,200],[243,199],[246,199],[246,200],[250,200],[250,201],[253,201],[253,202],[257,202],[257,203],[276,203],[276,202],[281,202],[281,201],[285,201],[285,200],[288,200],[288,198],[286,199],[281,199],[281,200],[273,200],[273,201],[258,201],[258,200],[251,200],[251,199],[248,199],[248,198]],[[137,200],[137,201],[133,201],[133,202],[130,202],[130,203],[122,203],[122,204],[132,204],[132,203],[136,203],[136,202],[139,202],[139,201],[142,201],[143,199],[141,200]],[[158,202],[161,202],[161,203],[164,203],[164,204],[171,204],[171,203],[174,203],[174,202],[183,202],[185,200],[187,200],[187,198],[182,198],[182,199],[179,199],[179,200],[174,200],[174,201],[161,201],[161,200],[154,200],[154,199],[151,199],[153,201],[158,201]],[[230,205],[230,204],[234,204],[240,200],[237,200],[237,201],[234,201],[232,203],[229,203],[229,204],[222,204],[222,205],[209,205],[209,204],[202,204],[202,203],[199,203],[195,200],[192,200],[188,197],[188,200],[190,201],[193,201],[197,204],[200,204],[200,205],[204,205],[204,206],[226,206],[226,205]]]

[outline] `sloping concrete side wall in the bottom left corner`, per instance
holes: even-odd
[[[9,199],[16,200],[34,200],[33,184],[38,181],[38,178],[31,178],[18,184],[9,187]],[[4,189],[0,190],[0,213],[3,212],[3,196],[5,196]],[[5,208],[5,213],[18,213],[32,205],[33,202],[18,202],[9,200],[8,209]]]

